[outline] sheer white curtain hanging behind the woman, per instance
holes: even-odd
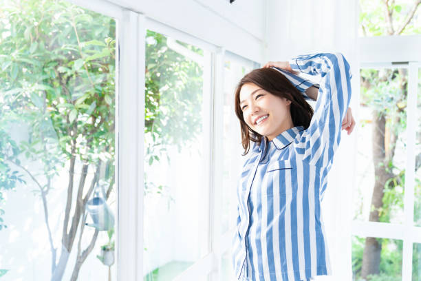
[[[265,61],[287,61],[298,54],[342,52],[352,68],[350,107],[358,123],[358,1],[267,0]],[[318,82],[318,77],[314,77]],[[343,131],[322,203],[333,276],[352,280],[351,221],[355,136]]]

